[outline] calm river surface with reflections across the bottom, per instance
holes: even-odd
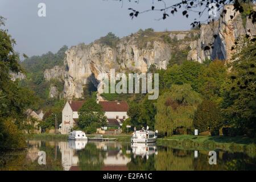
[[[28,140],[28,150],[0,152],[0,170],[256,170],[256,159],[243,153],[179,150],[125,142]],[[197,153],[197,155],[196,155]]]

